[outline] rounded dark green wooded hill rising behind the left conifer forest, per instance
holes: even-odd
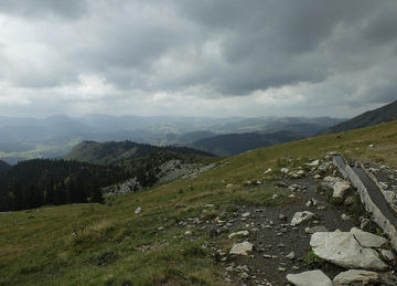
[[[140,158],[148,156],[149,153],[158,152],[173,152],[207,157],[212,156],[211,153],[204,151],[184,147],[157,147],[147,144],[137,144],[132,141],[84,141],[73,148],[73,150],[64,157],[64,159],[99,165],[109,165],[120,160]]]

